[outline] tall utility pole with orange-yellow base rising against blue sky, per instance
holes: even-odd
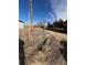
[[[30,4],[30,26],[29,26],[29,31],[33,32],[33,0],[29,0],[29,4]]]

